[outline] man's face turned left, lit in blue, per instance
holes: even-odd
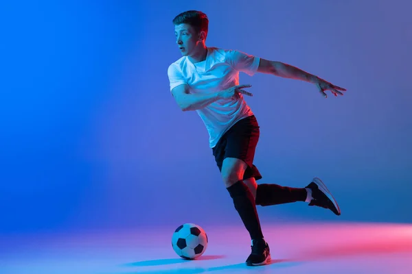
[[[200,40],[198,35],[188,24],[180,24],[174,26],[174,35],[176,36],[176,43],[183,56],[194,53],[196,45]]]

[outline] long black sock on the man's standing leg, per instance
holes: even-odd
[[[235,209],[238,211],[244,226],[251,235],[251,239],[258,240],[263,238],[258,212],[256,211],[255,199],[253,198],[251,190],[240,180],[232,186],[229,186],[227,191],[229,191]]]

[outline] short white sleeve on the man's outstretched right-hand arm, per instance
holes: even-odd
[[[236,71],[252,76],[258,71],[260,58],[242,51],[229,50],[226,52],[226,61]]]

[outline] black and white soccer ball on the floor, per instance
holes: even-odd
[[[177,227],[172,236],[174,252],[185,260],[201,256],[206,250],[207,242],[205,230],[194,223],[185,223]]]

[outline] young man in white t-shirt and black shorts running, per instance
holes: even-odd
[[[170,91],[181,110],[195,110],[209,132],[209,146],[222,175],[225,187],[233,199],[240,219],[251,240],[251,255],[247,265],[262,265],[271,261],[264,240],[256,205],[306,201],[340,215],[341,211],[321,179],[315,177],[306,188],[290,188],[277,184],[256,184],[261,179],[253,164],[260,127],[243,99],[252,96],[244,90],[250,85],[239,84],[239,72],[248,75],[266,73],[300,79],[317,86],[323,97],[325,90],[335,96],[344,88],[282,62],[258,58],[241,51],[206,47],[208,18],[203,12],[190,10],[173,19],[176,42],[183,55],[170,64]]]

